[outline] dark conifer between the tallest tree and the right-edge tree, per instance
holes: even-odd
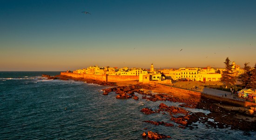
[[[242,85],[244,87],[248,87],[249,85],[249,79],[250,79],[250,76],[251,76],[251,67],[248,66],[249,63],[244,63],[244,73],[241,74],[238,79],[239,81],[242,83]]]

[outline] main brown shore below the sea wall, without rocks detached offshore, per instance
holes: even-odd
[[[103,95],[108,95],[108,92],[116,92],[119,98],[124,99],[133,98],[135,96],[132,93],[136,92],[145,95],[142,99],[154,101],[170,101],[170,102],[182,102],[179,108],[199,108],[203,110],[209,110],[211,113],[205,115],[201,112],[190,113],[190,115],[181,115],[173,117],[173,112],[168,112],[172,119],[170,121],[179,124],[180,128],[196,129],[197,126],[193,125],[194,122],[204,123],[207,127],[214,128],[229,128],[233,130],[242,130],[244,132],[256,131],[256,113],[248,112],[249,107],[235,106],[227,102],[211,101],[203,93],[197,91],[191,91],[186,89],[180,89],[162,84],[142,84],[137,81],[126,82],[102,82],[99,80],[74,78],[70,76],[54,76],[60,80],[73,79],[76,81],[84,81],[87,83],[95,83],[99,85],[110,86],[108,89],[102,89]],[[141,92],[141,89],[143,89]],[[118,91],[117,91],[118,90]],[[118,93],[120,92],[120,93]],[[151,93],[151,94],[150,94]],[[154,94],[152,94],[154,93]],[[122,96],[125,95],[125,96]],[[150,96],[150,97],[147,97]],[[208,95],[212,96],[212,95]],[[118,100],[118,97],[117,100]],[[132,100],[133,100],[132,99]],[[135,99],[136,100],[136,99]],[[173,108],[173,107],[167,107]],[[148,107],[150,110],[150,107]],[[254,107],[255,109],[255,107]],[[168,110],[168,109],[167,109]],[[178,109],[179,110],[179,109]],[[252,110],[252,108],[250,109]],[[153,112],[166,113],[166,109],[152,110]],[[209,120],[215,120],[215,123]],[[145,120],[146,121],[146,120]],[[149,131],[149,130],[148,130]]]

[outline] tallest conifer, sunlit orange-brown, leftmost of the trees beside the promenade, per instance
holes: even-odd
[[[233,74],[232,65],[230,64],[229,57],[226,58],[224,62],[226,70],[222,72],[221,81],[224,83],[225,87],[234,85],[236,83],[235,77],[231,76]]]

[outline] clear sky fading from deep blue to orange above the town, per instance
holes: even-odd
[[[227,57],[256,64],[256,0],[0,0],[0,71],[224,68]]]

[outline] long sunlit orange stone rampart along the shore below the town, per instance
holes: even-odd
[[[75,78],[87,78],[107,82],[118,81],[133,81],[139,80],[139,76],[109,76],[109,75],[94,75],[94,74],[76,74],[72,72],[61,72],[61,75],[71,76]]]

